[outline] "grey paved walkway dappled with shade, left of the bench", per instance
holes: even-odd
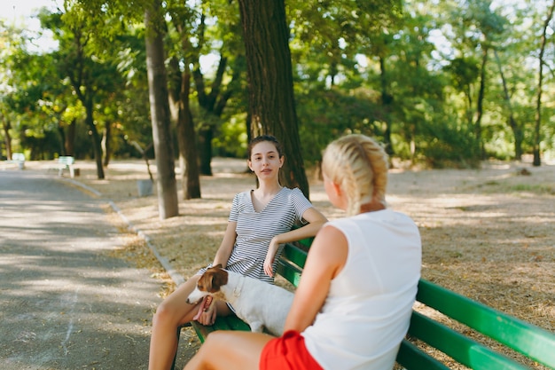
[[[160,282],[56,175],[0,171],[0,369],[145,369]]]

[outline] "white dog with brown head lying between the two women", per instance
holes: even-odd
[[[293,293],[285,288],[223,270],[221,265],[204,272],[187,303],[197,303],[206,295],[231,303],[238,318],[253,332],[261,333],[265,327],[277,336],[283,334],[293,303]]]

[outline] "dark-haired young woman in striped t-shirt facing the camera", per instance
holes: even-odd
[[[258,179],[258,187],[238,193],[233,199],[228,225],[212,264],[273,283],[283,245],[316,235],[327,221],[301,190],[279,184],[279,169],[284,161],[281,146],[273,136],[262,135],[249,143],[247,164]],[[298,222],[304,225],[292,230]],[[272,252],[267,259],[269,250]],[[198,279],[199,274],[188,279],[156,310],[152,319],[150,370],[170,368],[176,354],[177,327],[193,319],[212,325],[216,315],[231,313],[223,302],[215,302],[209,311],[203,311],[203,303],[185,303]]]

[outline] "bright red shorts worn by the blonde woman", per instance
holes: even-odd
[[[260,370],[323,370],[304,345],[304,338],[289,330],[266,343],[260,356]]]

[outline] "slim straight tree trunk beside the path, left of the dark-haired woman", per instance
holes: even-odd
[[[177,216],[176,170],[169,122],[168,82],[164,65],[164,18],[160,0],[152,0],[145,11],[146,70],[151,107],[152,139],[158,176],[156,188],[160,219]]]

